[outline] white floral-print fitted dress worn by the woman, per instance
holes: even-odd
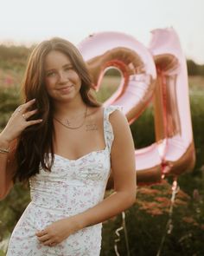
[[[71,234],[61,244],[44,246],[37,240],[40,231],[61,220],[97,205],[104,198],[110,175],[110,152],[114,135],[109,115],[118,106],[104,108],[105,149],[77,160],[54,154],[51,172],[40,169],[30,178],[31,202],[11,234],[7,256],[97,256],[101,247],[102,223]]]

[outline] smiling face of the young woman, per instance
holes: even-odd
[[[45,58],[44,71],[46,89],[54,101],[71,101],[80,95],[80,76],[64,53],[50,51]]]

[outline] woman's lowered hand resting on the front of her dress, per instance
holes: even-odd
[[[73,223],[68,219],[57,220],[42,231],[35,233],[44,246],[56,246],[73,233]]]

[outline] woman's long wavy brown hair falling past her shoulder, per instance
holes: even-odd
[[[45,87],[44,60],[51,50],[58,50],[70,58],[73,69],[81,79],[80,95],[83,102],[91,107],[100,105],[92,96],[91,76],[86,68],[79,50],[65,39],[54,37],[43,41],[35,47],[29,56],[29,62],[22,82],[22,93],[25,102],[36,99],[38,113],[31,119],[43,119],[41,124],[26,128],[19,137],[16,148],[17,171],[14,181],[27,183],[29,178],[39,173],[39,167],[51,171],[54,163],[53,148],[53,110],[51,98]],[[51,161],[49,154],[51,153]]]

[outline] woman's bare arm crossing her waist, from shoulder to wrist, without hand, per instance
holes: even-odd
[[[112,174],[114,193],[95,207],[73,216],[80,228],[103,222],[121,213],[136,200],[135,148],[131,129],[122,113],[110,115],[114,141],[112,143]]]

